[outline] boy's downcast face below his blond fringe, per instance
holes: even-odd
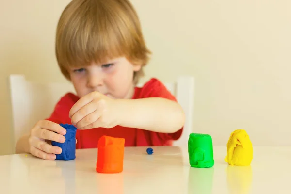
[[[80,98],[97,91],[110,98],[130,99],[134,94],[133,73],[140,69],[141,65],[133,65],[121,57],[105,64],[71,68],[69,74]]]

